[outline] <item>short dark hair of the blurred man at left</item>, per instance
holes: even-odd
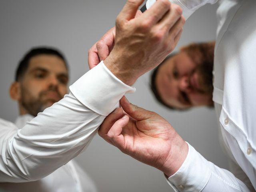
[[[35,47],[29,50],[24,55],[22,60],[20,60],[18,67],[16,68],[15,81],[20,81],[23,78],[26,70],[28,69],[28,64],[30,62],[30,59],[34,56],[41,55],[41,54],[58,56],[64,61],[65,66],[68,70],[68,64],[66,62],[66,59],[64,58],[63,54],[59,50],[57,50],[56,48],[50,48],[50,47]]]

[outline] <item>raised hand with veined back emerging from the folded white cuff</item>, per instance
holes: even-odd
[[[106,67],[128,85],[156,67],[176,46],[185,19],[182,9],[158,0],[135,18],[143,0],[128,0],[116,18],[114,48],[104,60]]]

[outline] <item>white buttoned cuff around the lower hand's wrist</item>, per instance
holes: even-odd
[[[176,192],[200,192],[208,183],[210,175],[208,160],[188,144],[188,155],[182,166],[166,179]]]

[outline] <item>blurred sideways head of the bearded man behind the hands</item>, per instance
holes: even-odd
[[[213,107],[214,44],[189,44],[167,56],[151,75],[151,90],[156,100],[178,110],[193,106]]]

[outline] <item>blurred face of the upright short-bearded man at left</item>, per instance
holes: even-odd
[[[68,71],[58,56],[42,54],[30,59],[20,82],[20,112],[37,116],[67,93]]]

